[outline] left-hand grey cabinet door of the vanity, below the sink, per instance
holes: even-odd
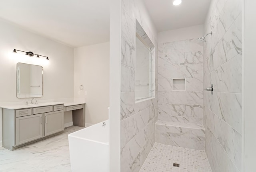
[[[42,113],[16,117],[16,145],[43,137]]]

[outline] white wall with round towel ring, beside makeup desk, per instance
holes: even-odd
[[[87,125],[108,119],[109,42],[74,49],[74,97],[86,98]]]

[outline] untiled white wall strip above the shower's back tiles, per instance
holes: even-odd
[[[158,44],[186,39],[194,39],[204,36],[204,25],[195,25],[158,33]]]

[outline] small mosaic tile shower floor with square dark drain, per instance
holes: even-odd
[[[174,167],[173,163],[180,164]],[[205,151],[155,143],[140,172],[212,172]]]

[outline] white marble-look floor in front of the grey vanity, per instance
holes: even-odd
[[[59,135],[14,151],[0,147],[0,172],[71,172],[68,134],[80,129],[68,127]]]

